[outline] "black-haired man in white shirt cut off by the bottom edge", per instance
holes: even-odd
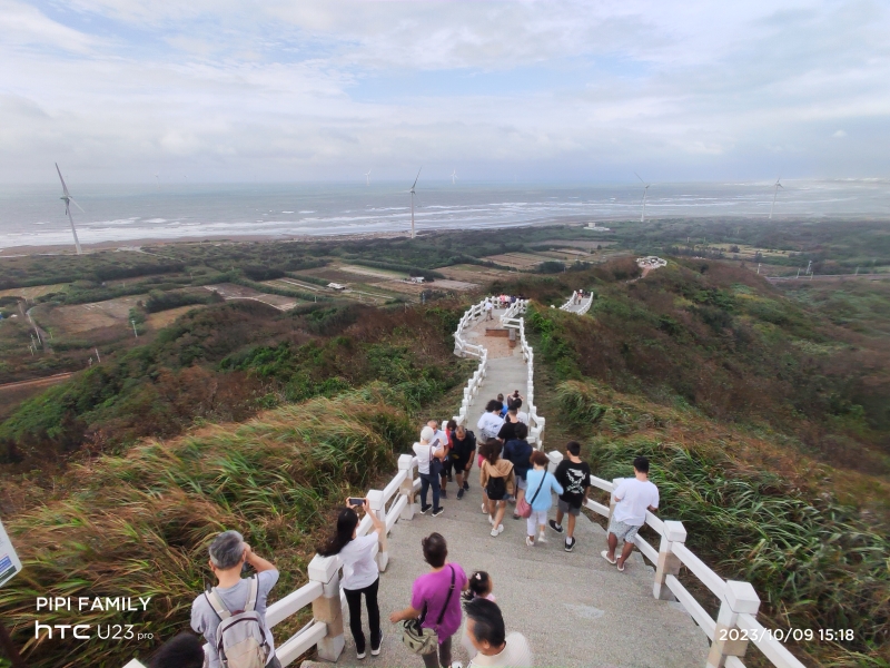
[[[485,598],[474,598],[464,606],[466,610],[466,635],[476,649],[476,656],[467,668],[477,666],[508,666],[531,668],[534,666],[528,641],[522,633],[506,635],[504,617],[497,603]]]

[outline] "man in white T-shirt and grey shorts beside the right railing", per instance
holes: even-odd
[[[644,456],[633,460],[633,472],[634,478],[624,479],[613,493],[615,510],[609,522],[609,549],[601,552],[603,559],[617,564],[620,571],[633,552],[633,539],[646,522],[646,511],[659,509],[659,488],[649,481],[649,460]],[[624,547],[621,557],[615,559],[619,540],[624,541]]]

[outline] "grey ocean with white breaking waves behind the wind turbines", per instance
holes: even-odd
[[[890,181],[787,180],[773,219],[890,218]],[[368,234],[411,228],[409,184],[115,185],[69,183],[81,244]],[[70,245],[60,185],[0,186],[0,248]],[[417,184],[418,232],[639,219],[640,185]],[[653,184],[646,217],[764,219],[770,184]]]

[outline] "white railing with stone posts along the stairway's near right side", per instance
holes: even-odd
[[[554,465],[563,459],[560,452],[551,452],[547,456]],[[592,487],[609,492],[610,504],[606,507],[589,500],[586,507],[611,519],[615,507],[613,493],[622,479],[617,478],[610,482],[591,475],[590,481]],[[756,620],[760,597],[750,582],[724,580],[711,570],[685,546],[686,530],[682,522],[660,520],[651,512],[646,512],[646,525],[661,537],[659,549],[649,544],[639,533],[633,542],[655,567],[652,593],[657,599],[676,598],[699,625],[711,641],[708,668],[720,666],[744,668],[741,657],[744,656],[749,641],[753,642],[778,668],[804,668],[782,644],[784,632],[767,629]],[[689,572],[720,600],[716,619],[713,619],[680,582],[676,576],[681,567],[686,567]]]

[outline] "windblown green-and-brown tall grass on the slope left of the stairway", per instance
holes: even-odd
[[[414,433],[404,404],[400,394],[374,384],[77,468],[67,484],[78,491],[7,525],[24,570],[0,590],[0,609],[29,665],[119,668],[134,655],[145,658],[147,641],[37,645],[36,597],[151,596],[146,615],[37,617],[135,623],[169,638],[188,625],[191,600],[208,582],[208,541],[224,529],[241,530],[275,560],[281,579],[274,598],[293,591],[305,579],[324,513],[349,490],[364,491],[377,471],[394,469],[393,453]]]

